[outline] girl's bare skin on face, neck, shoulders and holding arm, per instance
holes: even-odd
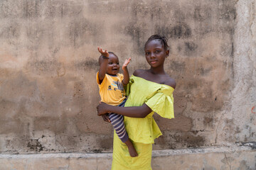
[[[175,89],[175,80],[164,72],[164,61],[166,57],[169,56],[169,50],[165,50],[164,45],[162,45],[159,40],[151,40],[145,45],[144,50],[146,61],[149,63],[150,69],[137,69],[133,75],[158,84],[166,84]],[[110,106],[106,103],[100,103],[100,105],[97,106],[98,115],[104,115],[105,113],[110,112],[131,118],[145,118],[146,115],[151,113],[151,108],[149,108],[145,103],[142,106],[124,108]]]

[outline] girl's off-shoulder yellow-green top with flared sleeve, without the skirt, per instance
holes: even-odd
[[[134,142],[154,143],[154,139],[162,133],[152,115],[157,113],[163,118],[174,118],[174,88],[132,75],[126,92],[129,97],[124,107],[142,106],[146,103],[152,110],[146,118],[124,116],[125,129],[129,138]]]

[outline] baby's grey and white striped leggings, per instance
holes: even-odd
[[[124,107],[125,101],[126,99],[124,99],[118,106]],[[109,117],[119,139],[122,140],[122,142],[127,142],[129,136],[124,128],[124,117],[116,113],[109,113]]]

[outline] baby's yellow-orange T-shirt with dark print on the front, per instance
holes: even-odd
[[[100,89],[101,101],[112,106],[117,106],[122,103],[125,98],[124,86],[122,84],[122,80],[124,79],[123,74],[117,74],[116,76],[105,74],[100,84],[99,72],[97,72],[96,79]]]

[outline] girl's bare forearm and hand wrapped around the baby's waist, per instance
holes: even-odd
[[[142,106],[119,107],[102,102],[97,106],[97,115],[103,115],[105,113],[117,113],[131,118],[145,118],[146,115],[151,113],[151,108],[145,103]]]

